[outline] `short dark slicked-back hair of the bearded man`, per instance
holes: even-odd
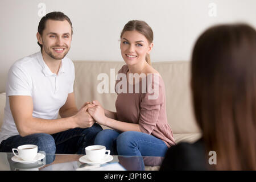
[[[46,28],[46,22],[48,19],[51,20],[59,20],[59,21],[64,21],[67,20],[68,23],[71,26],[71,33],[73,34],[73,26],[72,26],[72,22],[71,20],[68,18],[67,15],[65,15],[64,13],[60,12],[60,11],[53,11],[51,13],[46,14],[45,16],[43,16],[43,18],[40,20],[39,24],[38,24],[38,32],[39,34],[42,36],[44,28]],[[42,49],[42,45],[39,44],[38,45],[41,47]]]

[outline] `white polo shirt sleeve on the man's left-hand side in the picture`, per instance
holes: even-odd
[[[7,96],[31,96],[31,78],[22,65],[14,64],[8,73],[6,84]]]

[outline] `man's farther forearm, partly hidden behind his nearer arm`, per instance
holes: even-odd
[[[75,101],[75,94],[69,93],[66,103],[60,108],[59,114],[61,118],[71,117],[78,112]]]

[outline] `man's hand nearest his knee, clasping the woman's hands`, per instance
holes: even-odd
[[[85,129],[87,127],[92,127],[94,125],[95,121],[87,111],[89,107],[93,107],[93,106],[95,105],[88,103],[84,107],[81,107],[78,113],[74,115],[77,127]]]

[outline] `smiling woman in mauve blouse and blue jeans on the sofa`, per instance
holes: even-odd
[[[126,65],[118,72],[122,80],[119,77],[115,84],[117,112],[103,109],[98,101],[88,109],[95,121],[113,129],[98,133],[94,140],[113,155],[164,156],[175,144],[167,122],[164,82],[150,65],[152,41],[153,32],[146,22],[131,20],[125,25],[120,49]]]

